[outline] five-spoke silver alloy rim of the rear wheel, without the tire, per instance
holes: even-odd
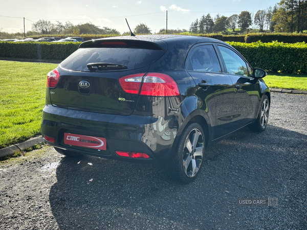
[[[204,137],[195,128],[191,130],[183,148],[183,168],[188,177],[194,177],[199,171],[204,155]]]

